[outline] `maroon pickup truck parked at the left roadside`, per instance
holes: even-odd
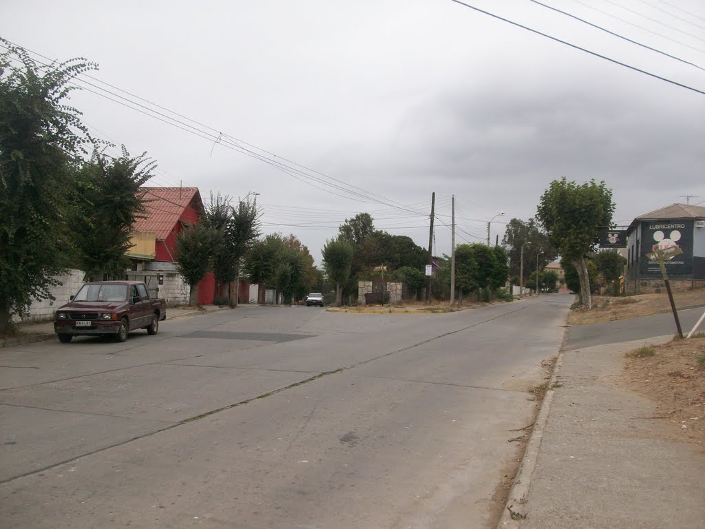
[[[56,310],[54,332],[63,343],[96,334],[125,341],[135,329],[157,334],[160,320],[166,320],[166,302],[149,298],[142,281],[93,281]]]

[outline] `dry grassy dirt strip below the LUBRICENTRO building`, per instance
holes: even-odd
[[[674,292],[673,298],[677,309],[700,305],[705,303],[705,288]],[[577,301],[577,296],[575,299]],[[611,322],[670,310],[666,292],[620,297],[594,296],[592,299],[593,309],[590,311],[571,310],[568,315],[568,324],[587,325]]]

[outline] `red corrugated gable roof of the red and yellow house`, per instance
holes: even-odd
[[[203,212],[203,201],[198,188],[141,188],[145,191],[144,219],[135,221],[135,231],[154,231],[157,241],[164,241],[176,223],[195,199],[199,214]]]

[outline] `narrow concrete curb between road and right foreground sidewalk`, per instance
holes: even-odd
[[[539,408],[539,414],[537,415],[536,422],[534,422],[531,437],[529,437],[529,442],[527,443],[527,449],[524,453],[524,457],[522,457],[517,475],[514,478],[514,484],[509,491],[502,516],[497,523],[497,529],[519,529],[522,519],[527,516],[526,505],[529,497],[529,488],[531,487],[531,478],[534,474],[534,468],[536,468],[537,459],[539,458],[541,439],[544,437],[544,428],[546,427],[546,422],[548,422],[548,412],[551,411],[551,401],[553,401],[553,394],[555,393],[555,391],[550,388],[556,383],[558,372],[560,372],[560,366],[562,364],[563,351],[558,353],[556,365],[553,366],[553,373],[551,373],[551,378],[548,379],[549,389],[546,390],[544,401],[541,403],[541,408]],[[522,516],[522,518],[513,518],[510,515],[508,507],[511,507],[512,510],[517,513],[518,516]]]

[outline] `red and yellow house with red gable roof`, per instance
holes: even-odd
[[[190,288],[176,272],[176,237],[203,217],[201,194],[198,188],[143,187],[142,190],[146,214],[135,222],[133,247],[128,251],[134,265],[128,275],[144,280],[150,289],[157,288],[159,296],[170,305],[185,305]],[[213,303],[214,293],[215,278],[208,273],[198,284],[199,305]]]

